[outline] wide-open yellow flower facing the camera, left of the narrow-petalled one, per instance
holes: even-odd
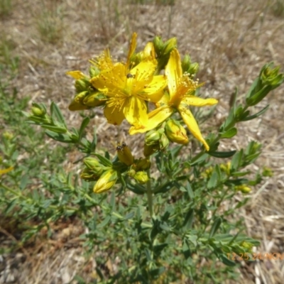
[[[141,125],[148,121],[146,102],[157,103],[167,85],[164,75],[154,76],[157,66],[153,58],[153,45],[146,45],[145,60],[133,67],[131,57],[136,48],[136,33],[133,34],[126,64],[109,62],[109,55],[101,59],[101,72],[93,77],[92,86],[107,96],[104,116],[110,124],[119,125],[126,119],[130,124]],[[106,62],[105,64],[103,62]],[[104,69],[104,67],[106,69]]]

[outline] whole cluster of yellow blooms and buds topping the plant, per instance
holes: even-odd
[[[75,79],[77,92],[69,109],[77,111],[103,107],[107,121],[114,125],[126,119],[131,125],[129,134],[146,133],[146,157],[167,148],[169,141],[182,145],[188,143],[187,131],[180,121],[209,151],[188,108],[217,104],[216,99],[196,96],[196,90],[202,85],[194,80],[198,64],[190,62],[188,55],[181,60],[175,38],[163,43],[155,37],[143,51],[136,53],[136,37],[133,33],[126,62],[114,62],[109,50],[105,50],[99,58],[90,60],[89,75],[81,71],[67,72]],[[180,121],[173,119],[174,114],[180,114]],[[146,182],[148,178],[144,170],[147,167],[140,169],[137,165],[145,161],[137,162],[131,158],[126,146],[119,145],[116,150],[121,163],[130,167],[129,175],[140,183]],[[87,166],[81,176],[86,180],[97,180],[94,192],[104,192],[116,182],[119,174],[114,167],[94,171]],[[111,180],[111,186],[108,180]]]

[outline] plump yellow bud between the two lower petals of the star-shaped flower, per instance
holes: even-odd
[[[172,142],[182,145],[186,145],[188,143],[185,128],[180,125],[180,122],[174,119],[169,119],[165,124],[165,134]]]

